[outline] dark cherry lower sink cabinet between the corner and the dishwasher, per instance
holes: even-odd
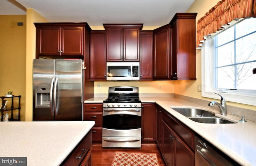
[[[194,133],[160,106],[157,110],[157,144],[167,166],[194,166]]]

